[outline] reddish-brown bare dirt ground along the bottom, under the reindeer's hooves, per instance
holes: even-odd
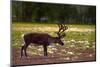
[[[69,51],[65,53],[61,51]],[[71,52],[74,52],[71,53]],[[63,55],[64,54],[64,55]],[[12,64],[13,65],[36,65],[36,64],[54,64],[79,61],[95,61],[95,50],[93,49],[76,49],[76,48],[58,48],[54,53],[48,53],[48,56],[32,55],[28,53],[28,57],[20,58],[20,48],[12,48]]]

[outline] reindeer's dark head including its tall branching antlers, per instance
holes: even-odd
[[[68,27],[65,24],[58,24],[58,27],[59,31],[57,32],[58,37],[56,37],[56,42],[60,45],[64,45],[61,39],[66,36],[64,32],[68,29]]]

